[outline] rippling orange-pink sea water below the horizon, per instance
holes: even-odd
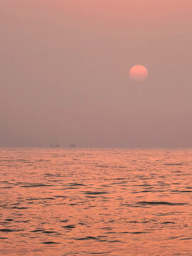
[[[0,255],[192,255],[192,149],[0,149]]]

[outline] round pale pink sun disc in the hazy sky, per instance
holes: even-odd
[[[148,77],[148,70],[144,65],[134,65],[129,70],[129,77],[136,82],[142,82]]]

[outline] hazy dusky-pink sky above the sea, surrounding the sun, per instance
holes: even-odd
[[[1,0],[0,146],[191,147],[191,47],[191,0]]]

